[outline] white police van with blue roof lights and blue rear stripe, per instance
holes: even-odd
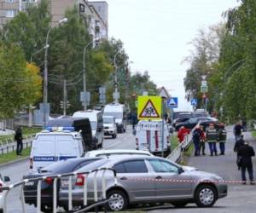
[[[32,141],[30,169],[31,172],[37,172],[56,161],[83,157],[84,153],[85,147],[79,132],[65,128],[56,131],[44,130]]]

